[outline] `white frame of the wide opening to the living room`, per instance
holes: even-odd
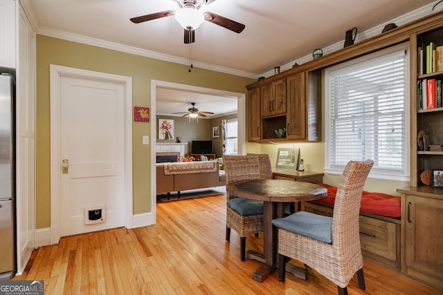
[[[244,155],[246,153],[246,118],[245,118],[245,105],[246,105],[246,95],[244,93],[230,92],[230,91],[221,91],[219,89],[213,88],[204,88],[198,86],[191,86],[186,84],[177,84],[172,82],[165,82],[159,80],[151,80],[151,208],[152,208],[152,224],[156,223],[156,207],[157,207],[157,198],[156,198],[156,88],[157,87],[167,87],[174,88],[177,90],[183,91],[193,91],[196,93],[207,93],[208,95],[220,95],[220,96],[230,96],[237,97],[237,142],[238,142],[238,154]]]

